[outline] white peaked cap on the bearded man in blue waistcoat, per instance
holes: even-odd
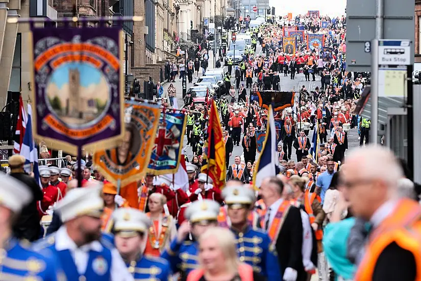
[[[104,199],[101,197],[102,183],[92,183],[86,188],[72,189],[57,202],[55,210],[61,220],[67,222],[80,216],[101,216]]]

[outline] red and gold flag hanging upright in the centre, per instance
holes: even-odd
[[[222,137],[222,128],[219,121],[216,103],[211,99],[211,108],[208,122],[208,147],[205,149],[206,165],[202,173],[206,173],[213,180],[213,186],[221,189],[225,184],[227,173],[225,161],[225,144]],[[206,151],[207,150],[207,151]]]

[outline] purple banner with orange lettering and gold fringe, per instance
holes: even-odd
[[[33,28],[35,137],[76,153],[124,133],[119,28]]]

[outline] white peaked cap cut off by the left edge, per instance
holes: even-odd
[[[32,200],[32,192],[21,181],[7,174],[0,174],[0,205],[19,213]]]

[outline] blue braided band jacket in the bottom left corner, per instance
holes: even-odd
[[[0,249],[0,280],[61,281],[66,278],[51,253],[32,251],[29,245],[12,238]]]

